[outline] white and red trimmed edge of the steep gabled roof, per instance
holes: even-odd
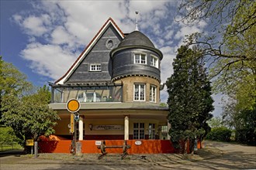
[[[119,33],[119,35],[124,38],[124,34],[121,31],[121,29],[119,29],[119,27],[116,25],[116,22],[114,22],[114,20],[112,20],[112,18],[109,18],[105,24],[102,26],[101,29],[99,29],[99,32],[96,34],[96,36],[92,39],[92,41],[88,44],[88,46],[86,46],[86,48],[84,49],[84,51],[80,54],[80,56],[78,57],[78,59],[73,63],[73,65],[71,66],[71,68],[69,70],[67,70],[67,73],[64,74],[64,76],[62,76],[59,80],[57,80],[55,83],[56,84],[64,84],[64,82],[71,76],[71,74],[73,73],[73,71],[79,66],[79,64],[81,63],[81,61],[85,58],[85,56],[88,54],[88,52],[92,49],[92,47],[95,45],[95,43],[100,39],[100,37],[102,36],[102,34],[106,31],[106,29],[109,28],[109,26],[112,25],[115,29],[116,32]]]

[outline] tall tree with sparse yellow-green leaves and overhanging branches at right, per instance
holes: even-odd
[[[185,0],[179,12],[187,24],[211,22],[214,30],[208,35],[214,36],[195,32],[186,42],[189,46],[199,46],[202,56],[209,59],[215,91],[229,98],[223,112],[224,121],[239,130],[238,127],[244,127],[241,122],[247,120],[245,113],[255,113],[256,1]],[[249,121],[255,124],[254,119]]]

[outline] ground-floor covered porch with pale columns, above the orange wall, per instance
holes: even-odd
[[[68,124],[70,113],[64,103],[50,104],[61,121],[56,135],[72,139]],[[168,139],[168,108],[144,103],[83,104],[76,121],[76,137],[83,140],[157,140]]]

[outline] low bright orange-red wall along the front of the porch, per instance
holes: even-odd
[[[177,150],[173,148],[168,140],[140,140],[141,145],[135,145],[137,140],[127,141],[127,145],[131,148],[127,150],[129,154],[160,154],[175,153]],[[101,153],[100,149],[95,145],[94,140],[80,141],[82,153]],[[106,146],[123,145],[123,140],[106,140]],[[40,153],[70,153],[71,141],[39,141]],[[109,153],[123,153],[122,148],[106,148]]]

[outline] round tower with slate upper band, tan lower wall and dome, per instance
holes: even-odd
[[[142,32],[127,35],[112,58],[112,82],[123,83],[123,101],[159,103],[160,63],[163,54]]]

